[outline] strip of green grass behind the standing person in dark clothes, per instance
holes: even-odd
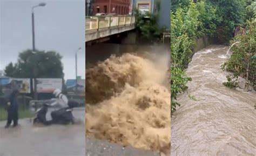
[[[30,110],[19,109],[18,116],[19,116],[19,119],[31,118],[34,116],[34,113],[31,112]],[[7,120],[7,111],[3,107],[0,107],[0,121],[3,121],[3,120]]]

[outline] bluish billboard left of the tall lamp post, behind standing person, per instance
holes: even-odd
[[[14,89],[20,93],[30,93],[29,78],[0,78],[0,85],[4,93],[9,93]]]

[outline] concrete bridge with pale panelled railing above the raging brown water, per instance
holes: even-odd
[[[105,42],[109,36],[135,29],[133,16],[87,16],[85,43]]]

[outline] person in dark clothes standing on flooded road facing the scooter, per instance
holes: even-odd
[[[14,121],[14,127],[18,125],[18,96],[19,91],[14,90],[10,94],[9,103],[8,103],[8,119],[5,128],[10,127],[11,122]]]

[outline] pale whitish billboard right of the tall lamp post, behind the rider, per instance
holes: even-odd
[[[33,82],[33,85],[35,82]],[[55,89],[62,90],[61,78],[37,78],[38,93],[52,93]]]

